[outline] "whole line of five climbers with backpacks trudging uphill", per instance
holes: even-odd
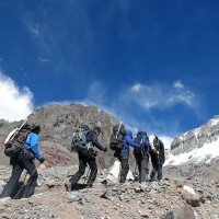
[[[10,157],[10,164],[12,165],[11,176],[4,186],[0,198],[19,197],[22,189],[22,198],[28,198],[34,194],[37,185],[37,168],[34,160],[39,163],[45,161],[44,157],[38,151],[38,134],[41,132],[39,124],[30,126],[26,120],[13,131],[9,134],[4,141],[4,154]],[[85,187],[92,187],[97,175],[96,154],[94,147],[101,151],[106,152],[107,147],[103,147],[99,142],[99,136],[102,132],[99,126],[92,129],[84,124],[81,124],[74,130],[71,141],[71,150],[78,153],[79,170],[65,184],[67,191],[72,191],[78,185],[78,182],[85,172],[87,164],[90,166],[89,177]],[[162,141],[154,135],[148,136],[146,131],[139,130],[136,138],[132,138],[132,132],[127,130],[120,123],[113,127],[113,134],[110,140],[110,148],[114,151],[114,157],[120,162],[120,177],[119,183],[124,184],[129,171],[129,147],[134,148],[134,155],[136,165],[138,166],[138,181],[143,183],[148,181],[149,175],[149,160],[152,163],[152,171],[150,173],[150,181],[162,178],[162,165],[165,161],[164,146]],[[27,182],[21,187],[19,193],[14,196],[14,191],[19,178],[26,170],[30,177]]]

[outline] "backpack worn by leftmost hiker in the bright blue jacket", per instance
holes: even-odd
[[[26,120],[20,126],[20,128],[16,127],[8,135],[4,141],[4,154],[7,157],[16,158],[19,152],[23,150],[23,143],[31,132],[31,126],[25,123]]]

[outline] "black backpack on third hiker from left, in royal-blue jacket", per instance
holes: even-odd
[[[124,137],[126,135],[125,126],[120,123],[113,126],[113,134],[110,139],[110,148],[113,151],[120,150],[123,148]]]

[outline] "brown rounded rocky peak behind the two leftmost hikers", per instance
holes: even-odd
[[[64,164],[77,162],[77,154],[70,152],[70,143],[73,130],[81,123],[89,125],[91,128],[96,125],[102,128],[100,142],[103,146],[110,142],[110,135],[113,125],[116,123],[114,117],[104,111],[100,111],[96,106],[84,106],[76,103],[69,105],[51,104],[37,107],[27,118],[27,123],[38,123],[42,126],[39,150],[43,154],[46,154],[47,162],[50,162],[50,164],[47,163],[48,165],[59,163],[59,161]],[[0,165],[9,163],[9,159],[2,152],[3,141],[8,134],[21,123],[0,120],[0,141],[2,142]],[[104,161],[104,153],[100,153],[99,163],[101,166],[105,166],[105,164],[111,162],[107,159],[112,159],[112,157],[107,157]]]

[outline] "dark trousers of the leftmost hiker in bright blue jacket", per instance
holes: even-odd
[[[36,187],[36,181],[38,177],[36,166],[33,162],[33,160],[30,160],[30,157],[26,157],[24,153],[20,153],[19,157],[13,161],[13,168],[12,168],[12,174],[11,177],[9,178],[7,185],[4,186],[2,193],[1,193],[1,198],[3,197],[12,197],[12,194],[14,189],[16,188],[19,178],[23,172],[23,170],[26,170],[30,177],[27,180],[26,185],[24,186],[23,191],[23,198],[28,198],[34,194],[35,187]],[[16,193],[15,193],[16,195]]]

